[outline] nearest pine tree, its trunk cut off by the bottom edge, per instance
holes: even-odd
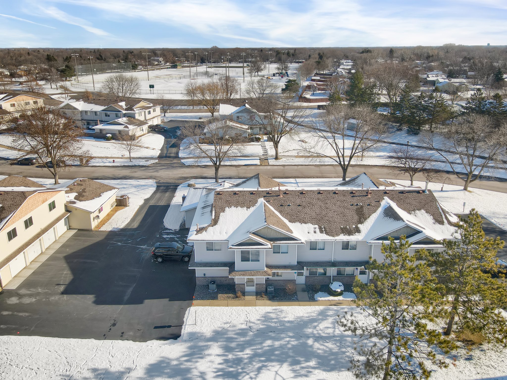
[[[357,378],[427,379],[428,362],[447,365],[437,350],[448,354],[455,349],[449,338],[426,323],[434,320],[432,305],[441,296],[428,265],[409,255],[410,246],[405,236],[399,243],[389,237],[389,243],[382,244],[385,260],[373,259],[368,265],[374,280],[354,282],[361,313],[340,316],[339,325],[359,337],[354,347],[359,355],[353,356],[349,368]]]

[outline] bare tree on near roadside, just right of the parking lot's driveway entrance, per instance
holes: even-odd
[[[197,125],[187,123],[180,129],[180,151],[197,160],[209,160],[219,182],[219,170],[224,161],[242,155],[244,137],[227,120],[208,119]]]

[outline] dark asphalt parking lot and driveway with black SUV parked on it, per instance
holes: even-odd
[[[192,305],[193,271],[183,261],[151,258],[155,242],[184,240],[185,231],[168,234],[162,225],[174,189],[157,186],[124,229],[76,232],[17,289],[1,292],[0,334],[179,337]]]

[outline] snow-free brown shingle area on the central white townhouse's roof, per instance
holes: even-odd
[[[350,189],[306,191],[297,189],[284,191],[283,197],[280,198],[277,192],[220,189],[214,194],[211,223],[199,230],[197,235],[216,225],[226,208],[250,208],[255,206],[260,198],[264,198],[265,202],[287,221],[314,224],[318,226],[320,233],[328,236],[350,236],[360,233],[359,225],[378,210],[380,202],[385,197],[408,213],[424,210],[433,217],[436,223],[445,224],[439,203],[431,191],[424,193],[419,190],[371,189],[370,197],[367,193],[368,190],[360,189],[353,191]]]

